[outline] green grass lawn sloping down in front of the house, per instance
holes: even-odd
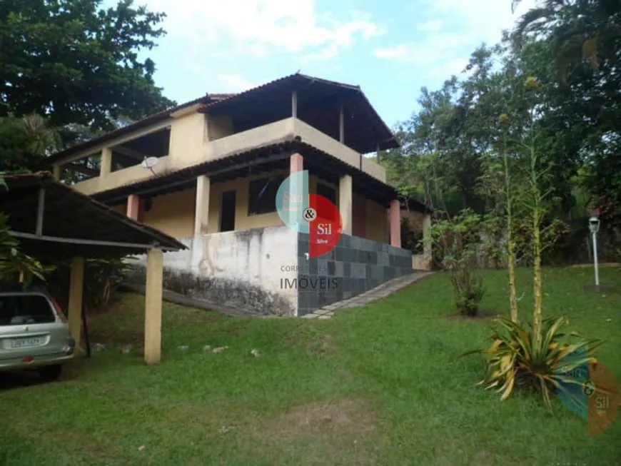
[[[620,268],[600,274],[621,288]],[[530,318],[529,271],[518,278]],[[607,340],[600,360],[621,380],[621,293],[584,293],[591,281],[591,269],[545,269],[545,315]],[[508,313],[507,283],[488,272],[483,310]],[[0,391],[0,465],[621,465],[621,420],[589,437],[558,400],[550,415],[534,395],[475,388],[482,359],[458,355],[488,327],[449,318],[452,299],[437,274],[330,320],[166,304],[163,362],[148,368],[115,349],[142,338],[143,298],[124,295],[91,318],[106,351],[59,383]]]

